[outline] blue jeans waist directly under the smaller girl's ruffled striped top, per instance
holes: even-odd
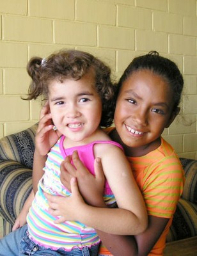
[[[47,249],[43,246],[35,244],[28,235],[24,236],[20,241],[20,256],[23,255],[43,255],[43,256],[97,256],[99,252],[99,244],[83,248],[74,248],[72,251],[67,252],[63,249],[58,249],[56,251]]]

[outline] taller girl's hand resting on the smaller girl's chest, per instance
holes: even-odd
[[[71,161],[73,161],[73,164]],[[74,151],[72,156],[68,156],[61,163],[60,179],[63,185],[70,190],[70,179],[72,177],[77,178],[79,191],[84,200],[90,205],[105,206],[103,200],[105,177],[99,157],[95,159],[94,168],[95,176],[81,162],[77,151]]]

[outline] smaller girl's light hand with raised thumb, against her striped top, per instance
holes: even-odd
[[[70,188],[72,194],[69,197],[49,195],[45,193],[49,202],[49,212],[53,216],[60,216],[54,223],[62,223],[66,220],[77,221],[80,214],[79,209],[82,211],[83,207],[86,207],[86,203],[79,193],[77,180],[75,178],[70,180]]]

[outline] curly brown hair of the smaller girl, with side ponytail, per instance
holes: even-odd
[[[79,80],[88,72],[93,72],[95,88],[102,100],[102,118],[100,126],[109,127],[114,115],[114,85],[111,81],[111,69],[88,52],[61,50],[48,58],[31,58],[27,71],[32,81],[29,85],[27,100],[43,96],[48,98],[49,84],[54,79],[61,83],[67,78]]]

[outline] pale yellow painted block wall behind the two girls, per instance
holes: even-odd
[[[197,158],[196,0],[1,0],[0,138],[38,121],[26,64],[58,49],[91,52],[118,79],[130,60],[156,50],[178,64],[185,90],[178,122],[164,131],[179,156]],[[185,123],[188,123],[185,125]]]

